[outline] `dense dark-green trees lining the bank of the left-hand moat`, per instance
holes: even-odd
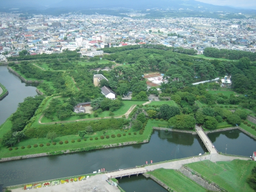
[[[24,102],[18,104],[17,111],[10,117],[12,122],[11,131],[3,136],[2,143],[4,145],[12,146],[26,137],[23,130],[43,99],[44,96],[27,97]]]

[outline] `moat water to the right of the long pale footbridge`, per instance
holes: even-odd
[[[251,156],[255,151],[256,140],[240,130],[210,133],[208,137],[217,150],[222,153]]]

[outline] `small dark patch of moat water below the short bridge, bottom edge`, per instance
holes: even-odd
[[[120,187],[126,192],[145,192],[145,191],[157,191],[157,192],[166,192],[165,188],[156,183],[150,178],[145,178],[143,175],[122,177],[122,179],[117,178]]]

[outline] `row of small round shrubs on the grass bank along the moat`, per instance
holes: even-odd
[[[144,128],[142,128],[142,129],[144,129]],[[134,132],[133,134],[134,134],[134,135],[137,135],[136,132]],[[139,134],[142,135],[142,134],[143,134],[143,130],[140,130]],[[123,136],[126,136],[125,133],[123,133],[122,135],[123,135]],[[128,133],[128,135],[131,135],[131,133]],[[117,137],[121,137],[121,134],[118,133],[117,135],[115,135],[115,134],[112,134],[112,135],[111,135],[112,138],[115,138],[116,136],[117,136]],[[109,136],[109,135],[106,135],[106,137],[104,137],[103,135],[100,136],[100,139],[104,139],[104,138],[109,139],[110,136]],[[95,140],[98,140],[98,137],[95,137],[94,139],[95,139]],[[84,141],[87,141],[86,138],[84,138],[83,140],[84,140]],[[93,138],[91,137],[90,140],[93,140]],[[81,142],[81,139],[77,139],[76,141],[77,141],[77,142]],[[64,141],[64,142],[65,142],[66,144],[69,143],[68,140],[66,140],[66,141]],[[74,143],[75,140],[72,139],[71,142]],[[52,144],[53,144],[53,145],[56,145],[57,143],[56,143],[56,142],[52,142]],[[63,141],[59,141],[59,144],[62,145],[62,144],[63,144]],[[46,145],[47,145],[47,146],[50,146],[51,144],[50,144],[50,143],[46,143]],[[44,146],[44,144],[41,143],[41,144],[39,144],[39,146],[42,147],[42,146]],[[34,144],[33,147],[36,148],[36,147],[38,147],[38,145],[37,145],[37,144]],[[20,147],[20,148],[23,150],[23,149],[25,148],[25,146],[22,146],[22,147]],[[31,145],[28,145],[27,148],[31,148]],[[10,148],[9,148],[9,151],[12,151],[12,150],[13,150],[13,148],[10,147]],[[15,147],[14,150],[18,150],[18,147]]]

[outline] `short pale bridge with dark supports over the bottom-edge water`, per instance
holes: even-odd
[[[114,170],[113,172],[108,172],[105,175],[108,176],[108,178],[117,178],[117,177],[124,177],[124,176],[131,176],[131,175],[139,175],[146,173],[147,169],[143,167],[133,167],[133,168],[126,168],[126,169],[119,169],[119,170]]]

